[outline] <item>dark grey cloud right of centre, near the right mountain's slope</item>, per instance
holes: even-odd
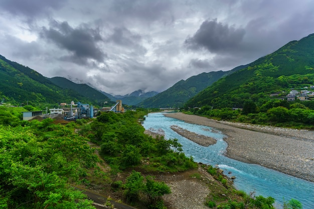
[[[245,30],[218,22],[217,19],[204,21],[196,33],[185,40],[191,49],[206,48],[211,52],[235,50],[241,44]]]

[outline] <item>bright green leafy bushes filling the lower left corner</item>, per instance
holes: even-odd
[[[49,118],[18,124],[12,112],[1,111],[15,122],[0,124],[0,207],[92,208],[69,185],[97,161],[86,138],[74,132],[75,124]]]

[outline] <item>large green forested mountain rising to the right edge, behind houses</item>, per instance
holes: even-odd
[[[314,82],[313,48],[314,34],[290,41],[249,66],[219,79],[191,98],[185,107],[243,107],[249,102],[262,105],[273,92],[286,95],[292,88],[309,88]]]

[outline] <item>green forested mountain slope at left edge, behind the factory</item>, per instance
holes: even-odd
[[[10,61],[0,55],[0,96],[2,100],[13,105],[24,103],[40,106],[50,103],[57,105],[71,100],[91,102],[97,104],[109,100],[103,98],[86,97],[72,89],[63,89],[55,85],[45,76],[27,66]]]

